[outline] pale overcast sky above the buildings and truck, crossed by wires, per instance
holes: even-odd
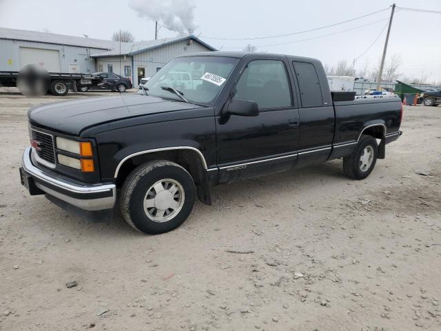
[[[147,8],[159,3],[162,8],[157,10],[173,3],[172,0],[0,0],[0,26],[37,31],[48,29],[52,33],[80,37],[87,34],[97,39],[110,39],[112,32],[121,28],[132,32],[136,40],[154,39],[154,20],[140,17],[130,6],[131,1],[132,4],[145,2]],[[376,66],[381,57],[390,10],[332,28],[287,37],[252,41],[207,37],[234,39],[289,34],[382,10],[390,6],[392,0],[391,3],[384,0],[194,0],[189,3],[194,4],[193,23],[197,26],[194,34],[218,49],[241,50],[252,43],[259,51],[316,57],[329,66],[335,66],[340,59],[352,63],[384,29],[376,43],[356,61],[356,68],[362,68],[366,63],[370,67]],[[441,10],[441,0],[396,0],[396,4],[406,8]],[[404,76],[426,76],[430,81],[441,81],[440,31],[441,14],[397,10],[388,57],[400,55],[400,73]],[[334,32],[341,33],[323,37]],[[175,37],[177,34],[163,27],[159,30],[159,38]],[[310,39],[314,37],[318,38]],[[283,45],[271,46],[280,43]]]

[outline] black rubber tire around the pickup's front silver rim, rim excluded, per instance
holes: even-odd
[[[147,199],[147,192],[152,192],[151,190],[154,184],[156,185],[156,183],[160,181],[164,181],[165,183],[169,179],[181,185],[181,188],[178,189],[178,198],[176,198],[175,194],[172,194],[170,197],[172,197],[173,200],[179,200],[179,196],[181,196],[183,201],[182,203],[179,202],[179,205],[181,205],[179,210],[177,208],[175,212],[170,212],[170,209],[165,210],[165,213],[167,213],[167,211],[170,213],[168,217],[172,218],[159,223],[158,220],[154,220],[154,217],[156,217],[154,214],[159,212],[158,208],[155,206],[150,208],[150,210],[147,209],[146,212],[144,210],[144,203],[150,200]],[[161,186],[163,186],[163,183],[161,183]],[[156,192],[156,190],[154,190],[154,192]],[[169,193],[165,193],[165,195]],[[158,192],[156,192],[153,197],[153,201],[156,201],[157,194]],[[150,161],[139,165],[139,167],[134,169],[127,179],[125,179],[123,187],[121,188],[121,213],[125,221],[132,225],[135,230],[147,234],[160,234],[174,230],[187,219],[190,212],[192,212],[194,195],[195,188],[192,176],[187,170],[181,167],[181,165],[163,160]],[[166,214],[165,217],[167,217]]]

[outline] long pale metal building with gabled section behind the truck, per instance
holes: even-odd
[[[134,87],[178,55],[211,50],[215,49],[194,36],[119,43],[0,28],[0,71],[39,64],[49,72],[114,72],[130,77]]]

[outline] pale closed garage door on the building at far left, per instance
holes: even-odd
[[[42,48],[20,48],[20,65],[39,64],[48,72],[60,72],[60,55],[58,50],[43,50]]]

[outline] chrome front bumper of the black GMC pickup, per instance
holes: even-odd
[[[38,188],[67,203],[75,205],[78,208],[85,210],[103,210],[113,208],[114,206],[116,201],[116,185],[114,184],[79,184],[69,181],[68,179],[56,177],[53,174],[45,172],[32,164],[30,147],[26,148],[23,152],[21,164],[25,172],[30,174],[32,177],[39,179],[38,182],[35,181]],[[65,191],[66,194],[47,187],[45,183],[49,186],[52,185],[61,189],[62,191]],[[97,193],[110,193],[111,195],[110,197],[87,199],[88,194]],[[74,197],[70,197],[69,194],[84,194],[83,197],[86,197],[86,199],[76,199]]]

